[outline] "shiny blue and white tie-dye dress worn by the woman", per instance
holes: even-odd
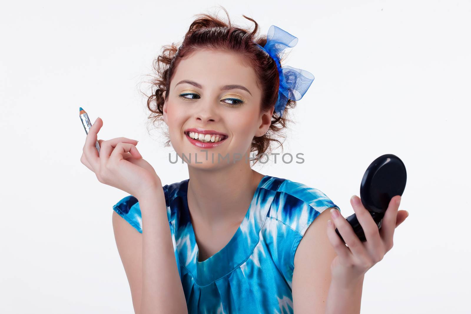
[[[317,189],[264,176],[232,239],[199,262],[187,204],[188,181],[163,186],[188,313],[293,313],[296,249],[322,211],[339,207]],[[113,209],[142,233],[134,196],[124,197]]]

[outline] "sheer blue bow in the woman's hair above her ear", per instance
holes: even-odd
[[[280,78],[280,86],[278,89],[278,100],[275,104],[275,112],[282,116],[284,107],[288,99],[300,100],[308,91],[309,87],[314,81],[312,73],[296,69],[288,65],[283,67],[280,64],[280,59],[284,54],[284,49],[287,47],[294,47],[298,43],[298,38],[294,37],[289,32],[282,30],[275,25],[271,25],[267,33],[267,43],[265,46],[259,46],[262,50],[266,51],[276,62],[278,75]]]

